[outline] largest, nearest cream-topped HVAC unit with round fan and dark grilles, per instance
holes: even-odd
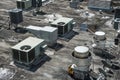
[[[13,60],[16,64],[29,67],[44,55],[45,48],[43,39],[29,37],[11,48]]]

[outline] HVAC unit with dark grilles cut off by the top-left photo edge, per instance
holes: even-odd
[[[18,9],[29,9],[32,6],[31,0],[17,0],[17,8]]]

